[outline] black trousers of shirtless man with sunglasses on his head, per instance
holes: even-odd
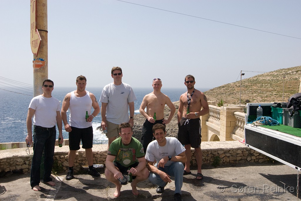
[[[143,146],[143,150],[144,150],[144,154],[146,153],[146,148],[147,148],[147,145],[149,143],[151,143],[151,141],[153,141],[153,126],[157,123],[162,123],[163,124],[163,120],[164,119],[161,119],[161,120],[156,120],[155,123],[151,123],[149,122],[147,119],[145,120],[145,122],[143,123],[143,126],[142,126],[142,129],[141,129],[141,133],[142,133],[142,136],[141,136],[141,144]]]

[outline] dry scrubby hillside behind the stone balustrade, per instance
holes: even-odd
[[[250,102],[282,102],[284,79],[284,102],[299,92],[301,66],[263,73],[241,81],[241,104]],[[242,77],[243,78],[243,77]],[[239,104],[240,80],[210,89],[205,93],[208,101]]]

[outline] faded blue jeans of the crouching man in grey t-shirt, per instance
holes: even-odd
[[[156,163],[154,166],[158,166]],[[164,168],[159,167],[159,170],[167,173],[169,176],[172,176],[175,178],[175,193],[181,193],[181,188],[183,185],[183,172],[184,172],[184,166],[181,162],[173,162],[170,166],[164,166]],[[151,183],[156,184],[158,186],[165,186],[165,181],[163,181],[159,175],[150,172],[150,175],[148,179],[151,181]]]

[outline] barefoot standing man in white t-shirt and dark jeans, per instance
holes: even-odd
[[[42,84],[43,94],[34,97],[29,104],[26,126],[26,144],[30,146],[33,142],[33,160],[31,162],[30,186],[33,190],[39,191],[40,166],[43,150],[44,157],[44,176],[43,182],[54,186],[52,181],[51,169],[53,164],[54,144],[56,138],[55,124],[57,124],[60,144],[63,143],[62,118],[60,114],[60,102],[51,96],[53,91],[53,81],[45,80]],[[33,117],[33,122],[32,122]],[[33,132],[32,132],[33,123]]]

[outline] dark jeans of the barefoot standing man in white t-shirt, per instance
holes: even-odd
[[[44,150],[44,170],[45,174],[43,177],[43,182],[52,181],[50,178],[53,155],[54,155],[54,144],[56,138],[55,127],[52,130],[45,130],[33,126],[33,160],[31,162],[31,172],[30,172],[30,186],[34,187],[40,183],[40,166],[42,160],[42,154]]]

